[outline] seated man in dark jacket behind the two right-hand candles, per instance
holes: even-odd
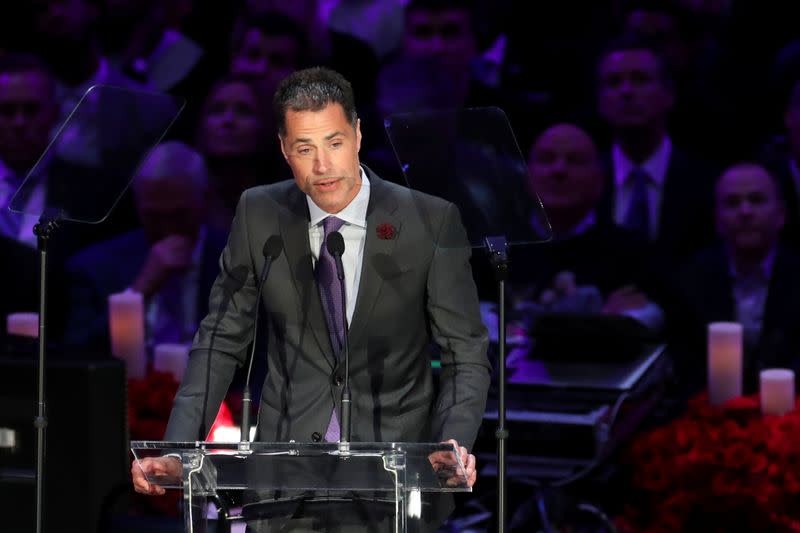
[[[745,393],[756,390],[764,368],[800,370],[800,255],[779,241],[786,218],[777,180],[759,165],[733,165],[717,181],[714,216],[721,243],[679,270],[670,313],[687,396],[706,385],[711,322],[742,324]]]

